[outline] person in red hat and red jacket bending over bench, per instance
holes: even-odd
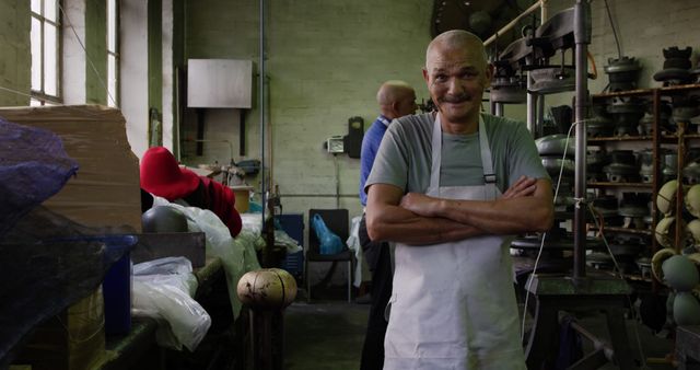
[[[166,148],[153,147],[141,159],[141,188],[168,201],[209,209],[229,228],[231,236],[241,232],[241,215],[234,208],[233,192],[207,176],[180,167]]]

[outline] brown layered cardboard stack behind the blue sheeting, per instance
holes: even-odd
[[[100,105],[0,108],[4,119],[56,132],[77,176],[43,205],[89,227],[127,224],[141,231],[139,160],[118,109]]]

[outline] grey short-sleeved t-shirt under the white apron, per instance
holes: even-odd
[[[523,123],[481,114],[498,187],[504,192],[521,175],[549,178],[537,153],[535,141]],[[374,160],[364,190],[373,184],[390,184],[405,193],[425,193],[430,185],[432,160],[431,113],[410,115],[395,120],[386,131]],[[441,186],[483,185],[483,170],[478,132],[442,134]]]

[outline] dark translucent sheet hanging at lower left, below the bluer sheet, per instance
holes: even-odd
[[[136,242],[133,230],[91,229],[44,207],[0,235],[0,368],[31,331],[95,291]]]

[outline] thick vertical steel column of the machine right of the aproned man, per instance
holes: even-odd
[[[588,60],[587,45],[591,43],[591,3],[590,0],[576,0],[574,5],[574,42],[576,63],[575,122],[576,148],[574,172],[573,223],[573,280],[580,281],[586,276],[586,114],[588,103]]]

